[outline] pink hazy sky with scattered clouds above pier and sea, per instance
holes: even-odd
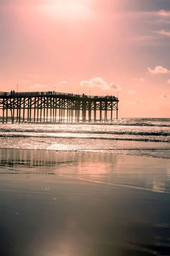
[[[170,117],[170,0],[0,0],[0,91],[119,97]]]

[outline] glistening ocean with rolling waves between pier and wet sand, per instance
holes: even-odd
[[[119,118],[107,123],[4,124],[0,148],[88,151],[170,159],[170,119]]]

